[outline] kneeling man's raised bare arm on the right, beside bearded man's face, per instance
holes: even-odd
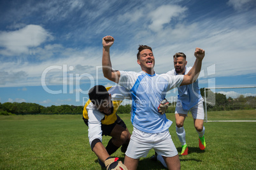
[[[194,66],[188,72],[188,74],[184,75],[183,81],[181,82],[180,86],[192,84],[197,80],[197,77],[199,76],[201,71],[204,54],[205,52],[203,49],[196,48],[196,51],[194,53],[194,55],[196,56],[196,62],[194,63]]]

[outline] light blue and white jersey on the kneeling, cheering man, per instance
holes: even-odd
[[[183,75],[120,71],[118,84],[127,88],[132,96],[132,125],[146,133],[166,131],[172,121],[166,118],[166,114],[160,114],[158,107],[167,91],[180,86],[182,81]]]

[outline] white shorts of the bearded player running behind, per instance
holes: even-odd
[[[195,105],[194,107],[190,108],[190,112],[192,114],[192,117],[194,119],[204,119],[204,100],[200,100],[197,105]],[[175,114],[188,114],[189,110],[183,110],[182,105],[181,105],[181,101],[177,100],[176,103],[176,108],[175,108]]]

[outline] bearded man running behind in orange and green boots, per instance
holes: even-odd
[[[167,72],[171,75],[186,75],[192,67],[186,67],[187,60],[184,53],[176,53],[173,56],[174,69]],[[176,133],[181,142],[181,155],[188,154],[188,147],[185,138],[185,129],[183,124],[185,118],[187,117],[188,111],[190,110],[192,117],[194,118],[194,126],[199,135],[199,148],[204,150],[206,143],[204,140],[204,106],[203,98],[200,93],[200,88],[198,86],[198,80],[192,84],[178,87],[178,101],[176,103],[175,109],[175,119],[176,119]]]

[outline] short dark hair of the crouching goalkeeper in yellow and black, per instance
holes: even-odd
[[[103,100],[106,100],[110,96],[107,89],[102,85],[96,85],[91,88],[88,95],[90,101],[92,101],[94,105],[101,105],[101,103],[103,103]]]

